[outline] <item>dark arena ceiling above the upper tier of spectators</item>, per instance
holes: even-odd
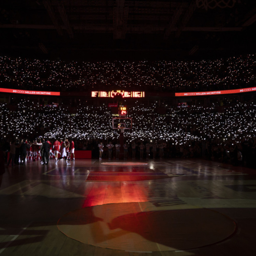
[[[208,0],[229,7],[207,10],[198,1],[205,2],[1,0],[0,54],[172,60],[255,53],[255,0]]]

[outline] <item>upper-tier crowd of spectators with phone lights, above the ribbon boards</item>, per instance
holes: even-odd
[[[66,62],[0,57],[0,87],[193,92],[253,87],[256,55],[202,61]]]

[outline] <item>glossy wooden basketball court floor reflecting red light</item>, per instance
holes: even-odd
[[[0,256],[256,253],[255,170],[232,165],[28,161],[8,168],[0,203]]]

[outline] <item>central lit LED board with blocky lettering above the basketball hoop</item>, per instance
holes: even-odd
[[[115,96],[121,96],[122,98],[144,98],[145,92],[126,92],[126,91],[92,92],[92,97],[114,98]]]

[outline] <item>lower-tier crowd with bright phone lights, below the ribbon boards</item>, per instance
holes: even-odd
[[[255,103],[222,107],[167,106],[164,115],[158,114],[157,107],[154,103],[129,108],[127,117],[132,117],[132,130],[124,132],[124,140],[129,145],[128,155],[132,142],[139,145],[142,141],[145,145],[163,144],[163,157],[166,158],[207,157],[256,167]],[[29,100],[21,100],[15,110],[2,103],[1,145],[6,149],[8,141],[22,138],[31,141],[40,137],[53,141],[72,138],[75,150],[92,150],[93,157],[97,157],[100,141],[104,145],[109,141],[114,145],[118,143],[119,130],[112,129],[112,117],[109,107],[84,106],[82,102],[75,113],[74,108],[71,113],[69,106],[36,106]]]

